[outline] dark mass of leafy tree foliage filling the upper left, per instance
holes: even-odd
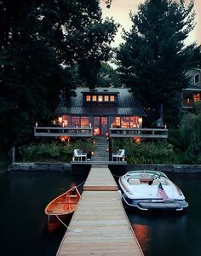
[[[98,0],[0,2],[0,151],[29,139],[79,79],[95,84],[117,30]]]

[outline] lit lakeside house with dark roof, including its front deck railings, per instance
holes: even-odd
[[[61,101],[49,127],[34,128],[36,137],[167,137],[167,129],[144,129],[146,116],[128,88],[78,87]]]

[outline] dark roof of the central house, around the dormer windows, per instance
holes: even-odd
[[[107,91],[106,91],[107,90]],[[129,92],[127,88],[96,88],[95,94],[108,93],[118,95],[118,104],[106,104],[106,103],[93,103],[89,102],[83,104],[83,93],[89,92],[88,88],[78,88],[75,90],[77,96],[71,97],[71,107],[65,106],[56,108],[55,115],[67,114],[67,115],[118,115],[118,116],[145,116],[140,102],[135,101],[135,97]]]

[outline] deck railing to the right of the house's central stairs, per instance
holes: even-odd
[[[110,137],[168,138],[168,129],[158,128],[110,128]]]

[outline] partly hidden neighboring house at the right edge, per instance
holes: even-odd
[[[193,103],[201,100],[201,69],[194,68],[187,71],[190,84],[182,90],[181,105],[184,109],[192,109]]]

